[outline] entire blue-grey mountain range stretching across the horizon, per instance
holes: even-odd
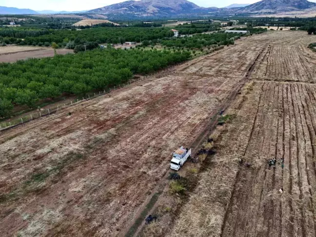
[[[259,12],[286,12],[314,8],[316,3],[307,0],[261,0],[254,4],[232,4],[225,8],[200,7],[188,0],[127,0],[90,11],[34,11],[15,7],[1,7],[0,14],[103,14],[111,17],[181,17],[208,13],[259,13]]]

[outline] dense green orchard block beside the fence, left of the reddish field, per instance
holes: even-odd
[[[148,74],[189,58],[189,52],[109,47],[0,63],[0,117],[9,115],[14,105],[33,107],[39,99],[104,90],[126,83],[134,74]]]

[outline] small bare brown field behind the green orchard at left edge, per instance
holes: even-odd
[[[18,47],[18,46],[17,46]],[[30,47],[31,48],[31,47]],[[57,49],[57,54],[73,54],[72,49]],[[4,54],[0,57],[0,62],[15,62],[18,60],[25,60],[31,58],[45,58],[53,57],[54,49],[38,49],[38,50],[29,50],[26,52],[13,52],[10,54]]]

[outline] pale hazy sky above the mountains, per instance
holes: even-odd
[[[81,11],[91,10],[124,0],[0,0],[0,6],[32,10]],[[225,7],[232,3],[254,3],[259,0],[190,0],[203,7]],[[316,0],[311,0],[316,1]]]

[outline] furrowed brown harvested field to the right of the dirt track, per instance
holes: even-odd
[[[252,85],[225,112],[235,119],[214,131],[220,134],[217,153],[206,159],[197,188],[166,236],[316,236],[316,85],[304,74],[314,72],[306,65],[315,56],[305,51],[305,35],[300,33],[305,45],[296,43],[298,34],[292,46],[282,42],[289,40],[286,32],[261,36],[271,39],[248,76]],[[280,56],[289,51],[293,55]],[[271,66],[299,62],[302,78],[260,79],[256,70],[267,52]],[[276,164],[269,167],[273,158]]]

